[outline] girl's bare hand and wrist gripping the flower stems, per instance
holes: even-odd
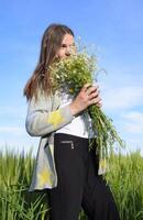
[[[101,98],[99,97],[98,86],[91,86],[86,84],[75,100],[70,103],[70,111],[73,116],[76,116],[87,109],[91,105],[101,107]]]

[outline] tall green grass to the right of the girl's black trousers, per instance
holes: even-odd
[[[122,220],[143,219],[143,157],[140,152],[110,157],[107,179]]]

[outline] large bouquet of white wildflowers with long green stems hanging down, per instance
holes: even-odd
[[[94,84],[97,59],[88,55],[86,51],[74,53],[67,58],[55,62],[51,66],[51,80],[55,90],[64,90],[76,96],[85,84]],[[86,111],[91,118],[97,139],[97,151],[101,158],[109,155],[114,143],[123,146],[123,141],[118,135],[112,120],[99,107],[90,106]]]

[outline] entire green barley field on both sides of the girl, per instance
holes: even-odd
[[[32,153],[0,152],[0,220],[46,220],[50,207],[44,191],[29,193]],[[143,220],[143,157],[140,151],[112,154],[106,179],[121,220]],[[81,210],[79,220],[87,220]]]

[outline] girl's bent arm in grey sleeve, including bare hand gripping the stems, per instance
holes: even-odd
[[[38,96],[36,101],[33,98],[28,110],[26,131],[33,136],[47,135],[70,123],[74,116],[80,113],[89,106],[97,105],[100,107],[100,100],[98,86],[89,87],[89,84],[81,88],[70,105],[57,110],[52,110],[53,101],[51,97]]]

